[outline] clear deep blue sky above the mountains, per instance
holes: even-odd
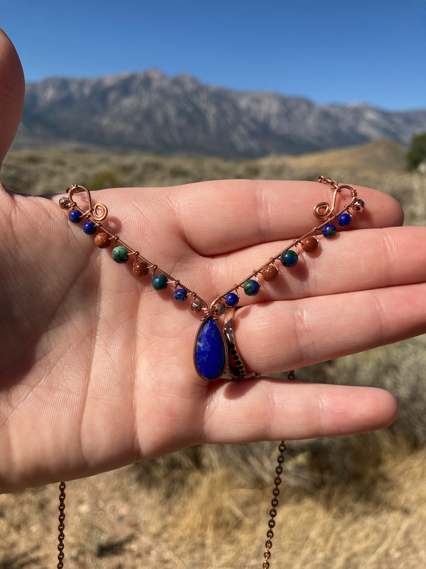
[[[27,81],[158,68],[233,89],[426,106],[426,2],[1,0]]]

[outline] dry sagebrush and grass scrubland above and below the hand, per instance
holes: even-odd
[[[426,222],[426,178],[392,142],[316,154],[220,160],[14,150],[2,179],[48,193],[219,178],[367,185]],[[387,387],[399,401],[381,433],[289,445],[271,569],[426,567],[426,337],[299,370],[298,379]],[[69,569],[261,567],[275,443],[199,446],[67,485]],[[56,566],[57,486],[0,496],[0,569]],[[26,552],[27,551],[27,552]]]

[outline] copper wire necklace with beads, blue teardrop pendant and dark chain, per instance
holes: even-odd
[[[248,277],[234,284],[227,291],[217,296],[211,304],[207,304],[196,292],[191,291],[178,279],[160,269],[158,265],[151,263],[140,254],[139,251],[132,249],[118,235],[111,233],[102,221],[108,215],[108,210],[103,204],[92,205],[90,192],[87,188],[72,184],[67,189],[67,196],[59,200],[62,209],[69,211],[68,217],[73,224],[80,224],[83,221],[83,232],[94,236],[94,243],[100,249],[109,248],[112,245],[112,258],[117,263],[126,263],[131,257],[133,260],[133,274],[137,277],[144,277],[151,271],[152,286],[156,290],[164,290],[169,285],[173,287],[173,297],[183,303],[190,299],[191,311],[201,314],[202,320],[195,336],[193,357],[195,370],[200,377],[207,381],[214,381],[224,374],[229,376],[230,381],[247,380],[249,377],[257,377],[260,374],[252,372],[247,374],[244,364],[241,361],[235,339],[233,335],[233,316],[237,304],[240,300],[239,292],[243,291],[248,296],[256,296],[260,290],[261,282],[259,276],[267,282],[275,281],[279,275],[277,261],[282,266],[291,269],[299,259],[299,246],[304,253],[314,253],[318,249],[318,235],[326,239],[332,239],[337,233],[336,225],[346,227],[352,221],[353,213],[360,213],[364,209],[364,201],[358,199],[357,192],[350,185],[339,185],[335,180],[319,176],[318,182],[328,184],[333,191],[332,204],[326,201],[316,204],[314,216],[323,221],[322,224],[312,228],[302,237],[295,239],[287,245],[285,249],[270,257],[266,263],[256,270],[253,270]],[[350,201],[341,211],[335,213],[337,194],[343,189],[350,192]],[[76,201],[74,194],[86,192],[88,209],[82,209]],[[335,225],[336,224],[336,225]],[[220,317],[224,315],[223,325],[220,324]],[[290,370],[289,380],[294,379],[294,371]],[[275,516],[277,515],[279,485],[281,484],[281,474],[283,471],[285,443],[282,440],[278,446],[278,465],[275,467],[275,480],[273,488],[272,508],[269,511],[268,530],[266,531],[266,542],[262,569],[269,569],[269,559],[271,556],[273,528],[275,526]],[[65,529],[65,482],[59,485],[59,545],[58,545],[58,564],[57,569],[64,567],[64,529]]]

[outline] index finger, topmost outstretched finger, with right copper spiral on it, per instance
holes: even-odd
[[[350,229],[402,225],[398,201],[371,188],[352,186],[364,200]],[[331,204],[328,184],[288,180],[216,180],[170,188],[170,202],[186,242],[201,255],[228,253],[250,245],[294,239],[323,221],[316,204]],[[336,212],[350,202],[350,192],[337,197]]]

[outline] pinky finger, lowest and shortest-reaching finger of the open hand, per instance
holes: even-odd
[[[262,378],[225,383],[211,393],[204,443],[310,439],[374,431],[391,424],[396,399],[377,387]]]

